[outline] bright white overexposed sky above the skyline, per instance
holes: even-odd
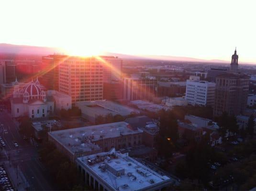
[[[256,63],[255,0],[2,0],[0,43]]]

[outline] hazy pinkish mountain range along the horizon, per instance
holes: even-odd
[[[48,55],[54,53],[64,53],[60,48],[54,47],[40,47],[40,46],[27,46],[27,45],[14,45],[0,43],[0,53],[7,54],[36,54],[36,55]],[[229,63],[223,60],[203,60],[189,57],[178,56],[158,56],[158,55],[128,55],[121,53],[104,53],[104,55],[118,56],[123,59],[150,59],[150,60],[163,60],[163,61],[179,61],[179,62],[207,62],[207,63]]]

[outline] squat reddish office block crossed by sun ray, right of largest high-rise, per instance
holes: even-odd
[[[156,96],[157,80],[150,77],[123,78],[123,99],[152,101]]]

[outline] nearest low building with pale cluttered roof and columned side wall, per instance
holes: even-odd
[[[175,182],[115,149],[78,158],[77,165],[83,180],[93,190],[161,190]]]

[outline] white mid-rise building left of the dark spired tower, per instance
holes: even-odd
[[[213,106],[215,83],[200,81],[199,76],[190,76],[186,85],[186,100],[190,105]]]

